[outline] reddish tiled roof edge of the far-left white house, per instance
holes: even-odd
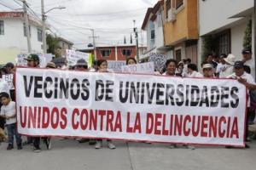
[[[23,12],[0,12],[0,19],[22,19],[24,18]],[[36,19],[32,15],[28,15],[29,23],[34,26],[42,26],[41,20]],[[48,27],[48,26],[47,26]]]

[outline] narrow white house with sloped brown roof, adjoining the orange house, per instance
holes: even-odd
[[[147,32],[147,51],[140,56],[145,59],[150,54],[167,54],[172,51],[171,47],[164,44],[164,0],[160,0],[153,8],[148,8],[143,20],[142,30]],[[168,58],[173,58],[172,52],[167,54]]]

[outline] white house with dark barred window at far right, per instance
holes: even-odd
[[[207,53],[234,54],[241,59],[247,27],[254,37],[253,0],[199,0],[200,51],[199,60]],[[249,23],[252,21],[252,26]],[[254,38],[252,38],[254,47]],[[255,51],[253,49],[253,54]],[[252,62],[255,64],[254,57]],[[255,68],[255,65],[254,65]],[[253,76],[255,71],[253,71]]]

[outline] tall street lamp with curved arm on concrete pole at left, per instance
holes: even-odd
[[[43,49],[44,49],[44,54],[47,53],[47,50],[46,50],[46,24],[45,24],[45,21],[46,21],[46,14],[49,13],[50,11],[54,10],[54,9],[63,9],[63,8],[66,8],[66,7],[63,7],[63,6],[59,6],[59,7],[55,7],[55,8],[50,8],[48,11],[44,12],[44,0],[41,0],[41,5],[42,5],[42,25],[43,25],[43,30],[42,30],[42,33],[43,33]]]

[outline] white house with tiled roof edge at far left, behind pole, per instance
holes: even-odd
[[[42,53],[42,25],[34,17],[28,18],[32,53]],[[27,49],[24,13],[0,12],[0,57],[14,62],[17,54],[27,53]]]

